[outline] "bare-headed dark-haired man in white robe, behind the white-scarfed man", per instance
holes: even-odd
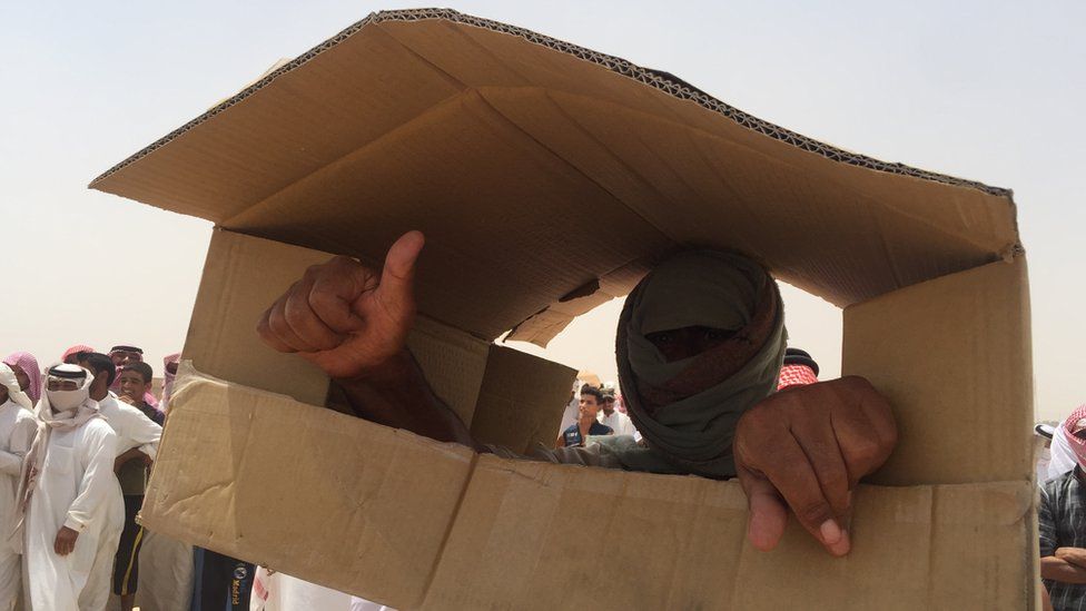
[[[135,570],[131,563],[126,563],[124,568],[116,564],[117,548],[121,538],[121,532],[129,516],[125,507],[126,481],[119,475],[126,463],[137,462],[139,465],[149,464],[158,453],[158,442],[162,436],[162,427],[152,422],[147,415],[132,405],[117,398],[117,395],[109,391],[113,384],[116,369],[109,356],[98,353],[79,353],[79,366],[85,367],[93,374],[95,380],[90,385],[90,398],[98,402],[98,411],[105,417],[106,423],[117,433],[117,456],[115,459],[113,471],[118,473],[120,487],[118,492],[121,496],[117,502],[121,505],[122,520],[117,524],[106,526],[107,536],[99,540],[100,546],[95,559],[95,569],[91,572],[88,587],[80,597],[80,608],[101,609],[109,600],[110,576],[120,571],[120,576],[126,573],[131,574]],[[130,477],[129,477],[130,481]],[[130,484],[129,482],[129,485]],[[138,481],[138,490],[132,494],[138,494],[142,500],[144,482]],[[138,528],[138,526],[137,526]],[[138,555],[132,554],[132,561],[138,562]],[[122,595],[121,609],[131,609],[135,602],[135,590],[132,592],[113,592]]]

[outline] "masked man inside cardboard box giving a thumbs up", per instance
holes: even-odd
[[[423,244],[418,231],[403,235],[379,272],[347,257],[310,267],[257,331],[324,369],[361,417],[510,456],[472,438],[406,348]],[[754,546],[777,545],[791,509],[830,553],[845,555],[851,491],[889,457],[897,428],[887,401],[860,377],[777,393],[786,341],[780,293],[761,265],[734,253],[681,253],[641,280],[619,319],[619,383],[644,443],[533,457],[738,476]]]

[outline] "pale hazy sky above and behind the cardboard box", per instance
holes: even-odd
[[[881,4],[881,6],[877,6]],[[425,6],[425,4],[416,4]],[[374,2],[0,3],[0,353],[179,349],[210,225],[86,185]],[[1039,417],[1086,401],[1086,4],[513,2],[457,10],[675,73],[801,134],[1015,189],[1029,258]],[[793,343],[836,375],[840,316],[786,292]],[[614,378],[618,304],[552,358]],[[825,376],[823,376],[825,377]]]

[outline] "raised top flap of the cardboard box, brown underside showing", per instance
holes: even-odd
[[[754,253],[838,306],[1018,247],[1006,190],[447,10],[375,13],[91,186],[369,262],[421,229],[422,312],[484,339],[544,313],[511,337],[541,344],[600,303],[562,297],[592,282],[624,295],[679,245]]]

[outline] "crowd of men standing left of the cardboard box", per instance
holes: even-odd
[[[138,346],[72,346],[42,368],[17,352],[0,364],[0,611],[134,608],[147,534],[137,523],[169,412],[178,354],[155,372]],[[241,609],[253,565],[182,546],[200,609]],[[188,573],[182,574],[182,573]],[[247,591],[246,591],[247,593]],[[168,608],[181,608],[178,600]]]

